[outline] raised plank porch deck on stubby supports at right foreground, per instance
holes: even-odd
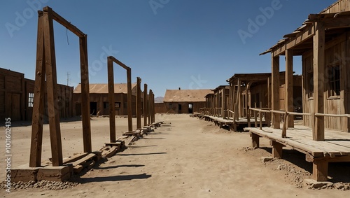
[[[287,129],[287,137],[282,138],[282,129],[248,127],[253,148],[259,148],[259,138],[270,140],[272,156],[282,157],[282,148],[290,146],[306,155],[305,160],[313,163],[313,178],[316,181],[328,180],[328,162],[350,162],[350,134],[325,129],[325,141],[314,141],[312,129],[301,125]]]

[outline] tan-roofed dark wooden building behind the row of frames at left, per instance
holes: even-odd
[[[127,83],[114,84],[116,115],[127,115]],[[132,106],[136,106],[137,84],[132,84]],[[141,97],[143,98],[143,97]],[[76,115],[81,115],[81,85],[73,91]],[[90,84],[90,114],[109,115],[108,84]],[[136,115],[136,108],[132,108]]]

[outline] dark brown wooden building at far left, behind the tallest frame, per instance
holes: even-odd
[[[57,85],[57,96],[60,118],[73,116],[73,87]],[[45,98],[47,95],[45,93]],[[0,68],[0,119],[31,120],[33,114],[34,80],[25,78],[24,73]],[[45,120],[48,115],[48,104],[45,99]]]

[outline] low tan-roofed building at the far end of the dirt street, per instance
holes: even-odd
[[[205,107],[205,96],[212,90],[167,90],[164,104],[166,113],[195,113]]]

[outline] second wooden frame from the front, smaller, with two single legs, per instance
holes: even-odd
[[[132,132],[132,84],[131,68],[113,56],[107,57],[109,80],[109,134],[111,143],[116,142],[116,111],[114,109],[114,73],[113,62],[127,71],[127,127]],[[123,105],[123,104],[122,104]]]

